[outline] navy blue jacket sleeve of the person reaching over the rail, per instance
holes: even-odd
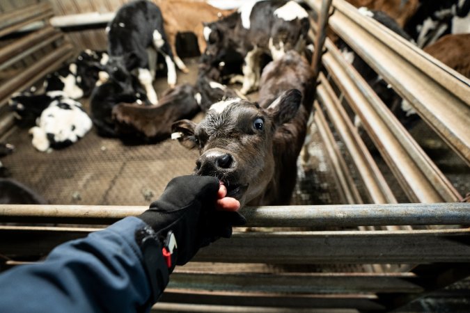
[[[0,312],[148,312],[159,295],[152,294],[134,239],[143,227],[139,218],[124,218],[63,243],[45,262],[6,271],[0,275]]]

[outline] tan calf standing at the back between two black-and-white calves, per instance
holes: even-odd
[[[185,73],[189,70],[176,52],[176,35],[189,31],[194,33],[198,40],[199,50],[203,54],[205,51],[203,22],[217,21],[217,19],[233,13],[233,10],[221,10],[200,1],[153,0],[153,2],[163,12],[166,38],[173,52],[176,66]]]

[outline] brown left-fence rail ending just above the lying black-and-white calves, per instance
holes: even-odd
[[[45,76],[45,74],[54,70],[54,68],[70,58],[70,56],[72,56],[72,45],[67,43],[28,67],[21,74],[6,81],[6,83],[0,86],[0,106],[6,103],[11,94],[22,90]]]

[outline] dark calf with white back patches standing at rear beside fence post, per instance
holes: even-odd
[[[310,22],[308,13],[295,1],[251,1],[217,22],[205,24],[207,48],[203,62],[219,66],[229,49],[244,58],[243,94],[259,86],[260,58],[274,61],[285,51],[304,51]]]

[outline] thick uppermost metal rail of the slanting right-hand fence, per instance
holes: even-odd
[[[307,1],[320,10],[320,0]],[[343,0],[329,25],[470,166],[470,80]]]

